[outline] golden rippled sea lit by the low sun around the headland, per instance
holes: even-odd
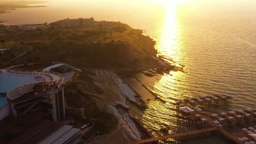
[[[256,1],[254,0],[88,0],[49,1],[45,8],[17,9],[0,14],[6,25],[94,17],[120,21],[142,29],[156,41],[155,49],[184,71],[126,79],[138,93],[151,97],[141,83],[166,101],[147,101],[148,109],[131,114],[141,118],[154,136],[198,129],[184,123],[173,108],[174,99],[207,94],[232,95],[230,104],[201,107],[203,113],[256,108]],[[242,127],[251,127],[247,123]],[[231,130],[239,130],[236,127]],[[240,129],[241,130],[241,129]],[[216,136],[184,143],[227,143]]]

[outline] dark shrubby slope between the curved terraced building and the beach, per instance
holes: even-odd
[[[118,121],[113,115],[99,109],[96,102],[92,99],[92,97],[94,97],[93,94],[96,93],[102,93],[102,90],[99,89],[94,84],[92,78],[84,72],[79,73],[79,76],[70,85],[65,87],[68,106],[78,109],[84,108],[86,117],[98,119],[97,131],[106,133],[108,130],[112,129]],[[74,115],[74,113],[69,114]]]

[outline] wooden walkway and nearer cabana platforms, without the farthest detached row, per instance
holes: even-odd
[[[179,142],[180,140],[193,139],[195,137],[202,137],[205,135],[217,134],[223,136],[232,143],[256,143],[256,139],[252,136],[256,133],[256,126],[243,128],[240,131],[230,133],[226,127],[234,127],[245,122],[255,122],[256,109],[247,108],[243,110],[230,110],[228,112],[210,113],[208,116],[190,109],[188,106],[180,107],[177,111],[178,116],[183,119],[185,123],[192,123],[205,127],[199,130],[185,131],[184,133],[169,134],[164,136],[152,137],[150,139],[133,141],[135,143],[168,143]],[[256,136],[256,135],[255,135]],[[167,142],[166,142],[167,141]]]

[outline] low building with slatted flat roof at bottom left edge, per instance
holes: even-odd
[[[72,125],[45,120],[17,136],[16,139],[10,141],[9,144],[68,144],[73,143],[79,137],[79,130],[80,129],[73,128]]]

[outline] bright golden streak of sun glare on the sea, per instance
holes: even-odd
[[[166,13],[164,25],[160,28],[160,37],[157,40],[158,44],[156,48],[160,51],[160,55],[170,56],[167,59],[173,58],[175,61],[181,61],[181,47],[179,41],[179,23],[178,15],[175,8],[175,4],[168,3],[166,5]],[[182,92],[175,91],[178,88],[177,83],[184,79],[184,74],[178,71],[171,71],[170,74],[165,74],[158,77],[159,80],[154,83],[154,92],[159,95],[159,97],[166,101],[163,104],[161,101],[153,101],[149,103],[149,109],[144,112],[143,119],[150,119],[149,125],[154,127],[155,130],[159,130],[162,126],[166,126],[170,131],[176,131],[178,128],[176,111],[172,110],[172,105],[174,100],[182,95]],[[168,87],[168,88],[166,88]],[[173,90],[172,92],[166,91],[166,89]],[[152,118],[154,117],[154,118]],[[158,123],[158,124],[155,124]]]

